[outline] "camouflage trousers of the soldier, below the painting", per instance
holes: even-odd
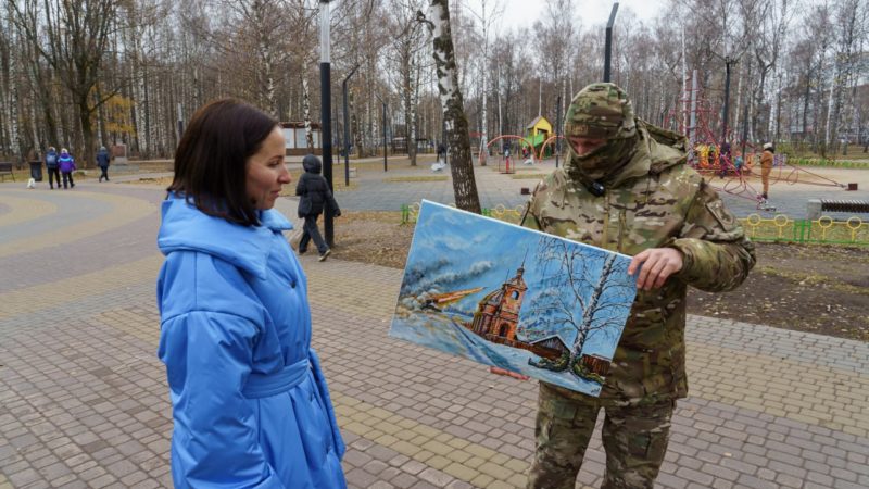
[[[652,488],[670,434],[675,400],[653,404],[597,399],[540,383],[531,489],[572,489],[597,413],[604,409],[602,488]]]

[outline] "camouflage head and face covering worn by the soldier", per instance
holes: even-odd
[[[568,139],[572,175],[590,180],[606,180],[628,164],[637,142],[637,122],[628,95],[615,84],[591,84],[570,101],[564,122],[565,138],[606,139],[606,145],[579,155]]]

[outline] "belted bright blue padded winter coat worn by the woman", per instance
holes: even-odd
[[[181,488],[345,488],[338,430],[311,350],[307,279],[277,211],[261,226],[169,197],[158,244],[158,355]]]

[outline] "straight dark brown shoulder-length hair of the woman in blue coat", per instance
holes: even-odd
[[[278,122],[235,99],[209,102],[193,114],[175,150],[175,177],[166,189],[205,214],[256,226],[247,195],[247,161]]]

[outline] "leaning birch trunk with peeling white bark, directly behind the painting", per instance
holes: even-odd
[[[477,181],[474,179],[468,120],[465,116],[462,91],[458,87],[448,0],[430,0],[428,18],[433,35],[438,92],[441,98],[446,139],[453,155],[450,171],[453,177],[455,204],[458,209],[479,214],[480,198],[477,193]]]

